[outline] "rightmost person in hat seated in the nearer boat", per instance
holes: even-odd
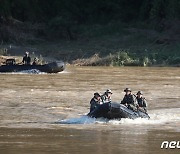
[[[147,101],[143,96],[143,92],[142,91],[138,91],[137,92],[137,103],[138,103],[138,109],[142,112],[147,112]]]

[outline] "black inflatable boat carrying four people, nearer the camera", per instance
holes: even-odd
[[[150,119],[147,113],[144,113],[140,110],[133,111],[128,109],[125,105],[119,103],[104,103],[98,106],[95,110],[88,113],[89,117],[92,118],[107,118],[107,119],[121,119],[121,118],[147,118]]]

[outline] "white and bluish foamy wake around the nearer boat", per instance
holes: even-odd
[[[107,120],[105,118],[90,118],[88,116],[81,116],[79,118],[70,118],[59,121],[60,124],[103,124],[108,123],[112,125],[161,125],[172,122],[180,123],[180,108],[174,109],[161,109],[161,110],[151,110],[150,119],[114,119]]]

